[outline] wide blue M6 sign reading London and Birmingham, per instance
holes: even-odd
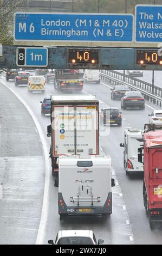
[[[15,41],[132,42],[132,14],[16,13]]]

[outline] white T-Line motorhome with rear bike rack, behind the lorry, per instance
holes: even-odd
[[[104,155],[59,157],[59,214],[112,214],[112,161]]]

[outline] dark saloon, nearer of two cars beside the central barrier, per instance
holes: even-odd
[[[126,109],[127,107],[139,107],[145,109],[145,99],[140,92],[126,92],[121,98],[121,108]]]

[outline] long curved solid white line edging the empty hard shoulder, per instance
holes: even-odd
[[[44,158],[45,158],[45,164],[46,164],[46,178],[45,178],[45,183],[44,183],[44,196],[43,196],[43,206],[42,206],[42,213],[41,213],[41,221],[40,221],[40,226],[38,229],[38,234],[37,234],[37,239],[36,239],[36,245],[41,245],[43,243],[43,237],[44,237],[44,232],[47,227],[47,219],[48,219],[48,209],[49,209],[49,201],[48,201],[48,194],[49,194],[49,183],[50,183],[50,164],[49,164],[49,159],[48,159],[48,147],[46,144],[46,139],[44,137],[44,132],[42,130],[42,127],[37,120],[34,112],[31,110],[29,105],[22,99],[20,95],[18,95],[14,90],[12,90],[7,84],[5,84],[3,81],[1,81],[2,84],[4,84],[5,87],[7,87],[14,95],[23,103],[23,105],[27,108],[29,114],[34,120],[34,123],[37,127],[38,133],[40,135],[40,139],[42,141],[43,145],[43,151],[44,151]]]

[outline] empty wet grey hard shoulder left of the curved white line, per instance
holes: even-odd
[[[44,190],[44,157],[34,121],[0,82],[0,244],[34,244]]]

